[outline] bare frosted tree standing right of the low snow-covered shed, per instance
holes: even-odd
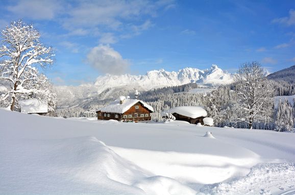
[[[241,65],[234,78],[238,99],[234,103],[236,121],[252,129],[254,120],[269,121],[273,115],[274,90],[269,86],[259,62]]]

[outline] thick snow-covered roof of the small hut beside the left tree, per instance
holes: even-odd
[[[20,100],[18,101],[20,112],[32,114],[32,113],[47,113],[47,103],[41,102],[37,99]]]

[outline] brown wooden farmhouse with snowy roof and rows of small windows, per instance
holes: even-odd
[[[125,99],[124,96],[120,96],[119,100],[115,100],[110,105],[96,111],[99,120],[123,121],[151,120],[152,112],[154,112],[154,109],[150,105],[141,100]]]

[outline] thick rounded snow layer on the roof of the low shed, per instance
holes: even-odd
[[[191,117],[191,118],[198,118],[201,116],[206,117],[207,111],[204,107],[201,106],[179,106],[175,108],[171,108],[165,112],[162,113],[162,116],[165,115],[165,113],[177,113],[183,116]]]

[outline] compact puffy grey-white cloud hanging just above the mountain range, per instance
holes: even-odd
[[[100,72],[112,75],[124,74],[130,66],[129,61],[112,47],[102,44],[92,48],[87,55],[87,62]]]

